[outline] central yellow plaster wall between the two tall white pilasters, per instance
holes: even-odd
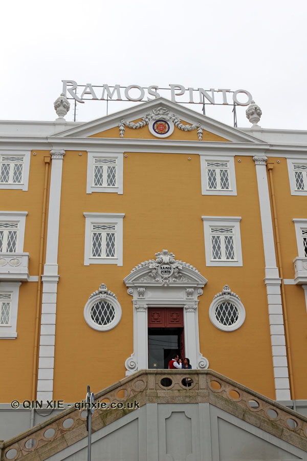
[[[252,158],[235,162],[237,197],[201,195],[198,155],[128,152],[124,157],[123,195],[86,194],[86,164],[84,152],[82,156],[67,152],[63,161],[54,398],[82,399],[86,384],[96,392],[123,378],[124,361],[133,352],[133,306],[123,279],[135,265],[163,248],[193,264],[208,279],[200,297],[199,325],[201,352],[210,367],[274,398]],[[122,267],[83,265],[83,212],[125,213]],[[206,267],[202,215],[242,216],[244,267]],[[83,317],[87,299],[101,283],[115,292],[122,307],[121,322],[107,332],[91,329]],[[243,327],[230,333],[215,328],[208,316],[212,298],[224,284],[237,292],[247,312]]]

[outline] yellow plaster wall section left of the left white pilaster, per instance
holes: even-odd
[[[30,255],[29,274],[38,275],[42,194],[45,180],[44,156],[49,151],[31,152],[28,191],[1,190],[3,211],[27,211],[24,252]],[[23,282],[19,288],[17,338],[0,340],[1,402],[31,399],[37,282]]]

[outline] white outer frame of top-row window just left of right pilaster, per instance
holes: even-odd
[[[200,154],[201,157],[201,182],[202,182],[202,195],[237,195],[235,169],[234,169],[234,156],[218,155],[216,152]],[[209,189],[208,187],[208,162],[227,162],[229,172],[229,189]]]

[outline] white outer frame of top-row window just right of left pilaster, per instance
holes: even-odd
[[[123,193],[123,152],[87,152],[87,181],[86,194],[93,192]],[[117,185],[116,186],[94,186],[94,161],[95,158],[116,158],[117,159]]]

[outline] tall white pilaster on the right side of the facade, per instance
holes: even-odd
[[[266,169],[267,157],[265,155],[255,155],[253,159],[256,165],[262,240],[264,242],[265,252],[265,284],[267,287],[276,400],[290,400],[289,370],[280,292],[281,279],[279,278],[279,271],[276,266],[269,185]]]

